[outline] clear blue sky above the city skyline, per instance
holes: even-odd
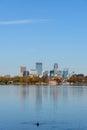
[[[87,0],[0,0],[0,75],[20,66],[87,74]]]

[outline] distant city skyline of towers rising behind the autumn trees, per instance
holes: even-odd
[[[44,63],[40,62],[36,62],[34,65],[34,68],[28,68],[28,66],[26,65],[21,65],[18,72],[15,75],[11,75],[10,73],[5,73],[2,76],[5,77],[15,77],[15,76],[29,76],[29,75],[33,75],[33,76],[45,76],[45,75],[54,75],[54,76],[62,76],[67,75],[67,76],[72,76],[72,75],[79,75],[79,74],[83,74],[83,73],[75,73],[75,71],[70,72],[69,68],[60,68],[58,63],[54,63],[53,66],[51,66],[50,69],[45,69],[44,68]],[[84,74],[83,74],[84,75]],[[65,77],[67,77],[65,76]],[[86,76],[86,75],[85,75]],[[51,77],[51,76],[50,76]]]

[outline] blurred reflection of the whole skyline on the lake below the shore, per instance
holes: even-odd
[[[21,101],[29,100],[39,107],[43,102],[54,102],[63,98],[67,100],[72,97],[82,96],[85,93],[84,87],[71,87],[71,86],[21,86],[20,97]]]

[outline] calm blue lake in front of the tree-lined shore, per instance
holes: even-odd
[[[0,86],[0,130],[87,130],[86,121],[86,86]]]

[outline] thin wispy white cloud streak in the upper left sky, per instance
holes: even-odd
[[[14,21],[0,21],[0,25],[47,23],[48,21],[49,21],[48,19],[24,19]]]

